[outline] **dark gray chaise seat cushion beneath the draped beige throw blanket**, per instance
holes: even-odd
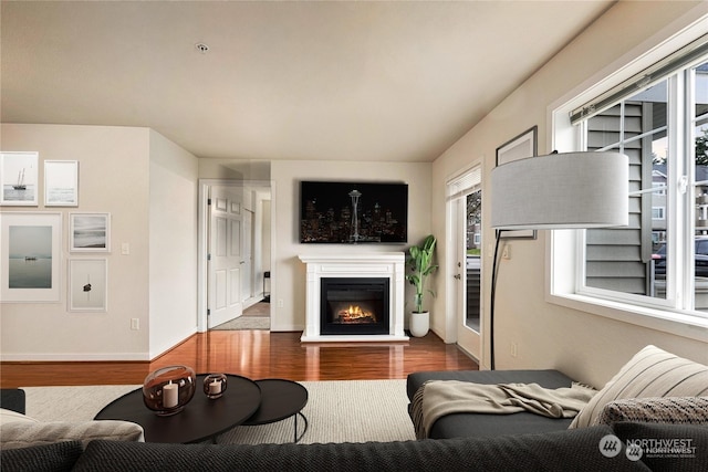
[[[427,380],[461,380],[477,384],[539,384],[545,388],[570,387],[573,379],[558,370],[450,370],[421,371],[408,376],[406,390],[413,399]],[[523,434],[564,430],[572,419],[545,418],[534,413],[513,415],[448,415],[438,419],[430,429],[433,439]]]

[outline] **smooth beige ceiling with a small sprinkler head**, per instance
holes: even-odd
[[[208,158],[433,161],[612,3],[2,1],[1,119],[150,127]]]

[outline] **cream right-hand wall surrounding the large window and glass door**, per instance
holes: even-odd
[[[531,126],[539,126],[539,153],[550,149],[550,104],[597,75],[610,64],[629,61],[637,48],[648,50],[699,18],[689,11],[700,2],[620,2],[585,30],[537,74],[468,132],[433,166],[433,228],[445,232],[445,182],[473,162],[483,164],[483,192],[489,195],[489,171],[496,148]],[[706,10],[702,2],[701,11]],[[687,12],[689,12],[687,14]],[[622,61],[621,61],[622,60]],[[540,182],[541,185],[541,182]],[[489,214],[489,200],[483,211]],[[489,221],[486,218],[486,221]],[[498,369],[558,368],[571,377],[602,386],[637,350],[655,344],[678,355],[707,361],[708,345],[680,336],[598,317],[552,305],[544,300],[545,232],[535,241],[512,241],[512,259],[500,264],[496,308],[496,364]],[[486,249],[493,231],[485,228]],[[446,243],[441,241],[440,250]],[[447,289],[449,268],[439,272],[434,326],[444,333],[438,310]],[[491,256],[483,251],[483,269],[491,273]],[[485,306],[489,306],[490,277],[485,277]],[[488,313],[483,314],[485,322]],[[488,339],[486,339],[488,342]],[[510,344],[518,344],[511,357]],[[488,346],[488,343],[486,344]],[[488,367],[488,347],[483,354]]]

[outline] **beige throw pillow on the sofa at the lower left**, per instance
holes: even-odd
[[[11,422],[0,427],[0,449],[28,448],[62,441],[94,439],[145,441],[143,427],[129,421],[102,420],[82,422]]]

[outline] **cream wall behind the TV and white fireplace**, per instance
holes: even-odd
[[[279,160],[271,162],[275,228],[272,254],[273,331],[302,331],[305,323],[305,266],[300,254],[406,251],[430,233],[430,168],[428,162],[331,162]],[[408,244],[301,244],[300,181],[361,180],[408,183]],[[408,307],[410,291],[406,290]],[[279,301],[283,306],[279,306]]]

